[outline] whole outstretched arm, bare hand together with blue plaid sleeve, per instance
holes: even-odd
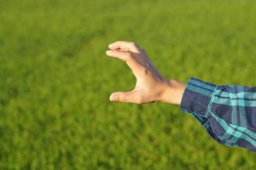
[[[137,78],[133,90],[115,92],[111,101],[180,105],[219,143],[256,151],[256,88],[218,86],[195,78],[190,78],[186,86],[166,80],[134,42],[113,42],[107,54],[124,60]]]

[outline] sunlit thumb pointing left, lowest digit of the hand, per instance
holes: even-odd
[[[132,90],[129,92],[114,92],[110,95],[110,101],[128,102],[141,104],[142,99],[137,90]]]

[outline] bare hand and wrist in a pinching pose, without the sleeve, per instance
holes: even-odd
[[[135,42],[126,41],[113,42],[108,48],[106,54],[124,60],[137,79],[133,90],[114,92],[110,101],[136,104],[160,101],[180,105],[185,84],[162,77],[143,48]]]

